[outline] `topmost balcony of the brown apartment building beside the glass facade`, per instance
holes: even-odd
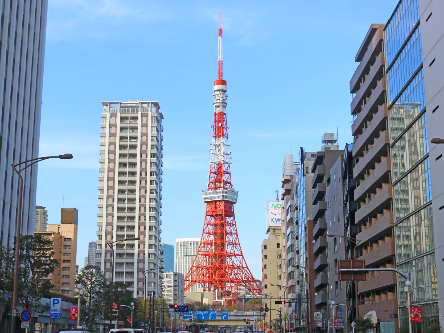
[[[374,25],[374,28],[372,27],[372,29],[376,29],[376,32],[373,35],[371,41],[366,38],[364,43],[361,45],[358,54],[356,55],[356,61],[359,61],[360,64],[356,68],[356,71],[353,74],[352,79],[350,80],[350,92],[356,91],[358,89],[362,73],[368,72],[368,69],[371,66],[370,60],[372,60],[376,55],[380,54],[383,50],[383,27],[379,25]]]

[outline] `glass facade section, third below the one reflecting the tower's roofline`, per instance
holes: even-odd
[[[397,262],[434,250],[432,206],[425,207],[397,224],[395,234]]]

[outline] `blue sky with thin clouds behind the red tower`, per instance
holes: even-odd
[[[162,240],[200,237],[217,75],[219,12],[232,180],[242,250],[261,276],[265,204],[285,154],[351,142],[349,81],[370,24],[398,0],[49,0],[37,205],[79,209],[77,263],[96,239],[102,101],[157,100],[164,115]],[[296,157],[295,157],[296,158]]]

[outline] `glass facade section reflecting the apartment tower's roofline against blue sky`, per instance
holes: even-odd
[[[423,73],[424,70],[421,69],[390,110],[388,110],[390,143],[396,141],[425,107]]]

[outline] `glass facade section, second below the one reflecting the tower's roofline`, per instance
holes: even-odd
[[[393,185],[395,223],[431,201],[430,162],[424,160]]]

